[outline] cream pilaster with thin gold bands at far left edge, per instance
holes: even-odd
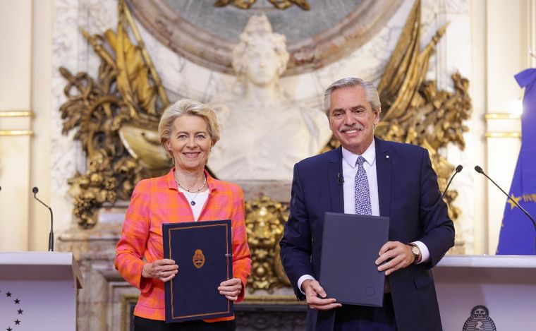
[[[28,249],[31,8],[0,0],[0,251]]]

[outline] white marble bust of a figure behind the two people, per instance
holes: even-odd
[[[209,102],[218,115],[221,140],[208,166],[221,179],[291,181],[294,164],[329,141],[322,109],[292,104],[289,91],[279,87],[287,63],[284,35],[272,32],[266,16],[252,16],[233,49],[241,90],[225,91]]]

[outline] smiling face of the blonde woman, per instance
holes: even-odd
[[[166,148],[171,150],[178,169],[202,169],[207,163],[212,139],[207,122],[200,116],[183,115],[173,122]]]

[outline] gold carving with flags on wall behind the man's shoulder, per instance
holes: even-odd
[[[454,166],[439,150],[453,143],[465,148],[463,133],[468,127],[472,107],[469,81],[459,73],[451,76],[453,92],[438,90],[434,80],[426,80],[430,56],[437,42],[444,35],[446,25],[437,30],[432,40],[420,49],[420,1],[415,1],[406,25],[391,59],[378,85],[382,102],[380,121],[374,134],[379,138],[410,143],[427,148],[432,167],[437,172],[439,189],[446,187]],[[339,141],[331,138],[324,150],[338,148]],[[444,200],[449,205],[449,217],[456,224],[461,210],[453,205],[458,192],[446,192]],[[464,253],[461,232],[456,231],[456,243],[452,253]]]

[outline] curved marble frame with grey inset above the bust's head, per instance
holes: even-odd
[[[231,52],[250,16],[264,13],[274,32],[286,35],[291,61],[286,75],[305,73],[343,59],[389,21],[401,0],[312,0],[274,11],[255,4],[250,10],[217,8],[213,1],[129,0],[140,23],[173,52],[195,64],[233,73]]]

